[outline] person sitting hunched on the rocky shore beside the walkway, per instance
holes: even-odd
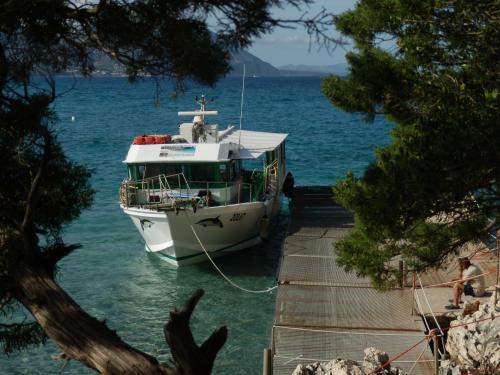
[[[484,295],[484,275],[479,266],[472,264],[467,257],[458,258],[460,278],[453,285],[453,303],[445,306],[448,310],[459,309],[462,293],[466,296],[482,297]]]

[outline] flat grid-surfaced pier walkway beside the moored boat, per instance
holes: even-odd
[[[300,187],[290,207],[283,245],[273,323],[274,375],[290,375],[297,364],[335,358],[362,362],[366,347],[394,356],[424,336],[412,315],[411,289],[380,293],[369,280],[336,263],[335,242],[354,225],[352,215],[335,204],[329,187]],[[426,341],[394,363],[413,374],[432,373]]]

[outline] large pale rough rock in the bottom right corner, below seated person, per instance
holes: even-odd
[[[487,303],[472,315],[451,322],[446,342],[450,361],[442,363],[443,375],[499,368],[500,318],[491,319],[499,314],[498,305],[495,308]]]

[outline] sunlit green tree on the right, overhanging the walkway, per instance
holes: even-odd
[[[355,48],[323,92],[394,124],[364,175],[334,187],[356,222],[336,249],[384,287],[391,260],[437,267],[498,223],[500,2],[362,0],[335,24]]]

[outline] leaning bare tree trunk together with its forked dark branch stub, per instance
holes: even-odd
[[[53,280],[50,274],[25,267],[19,270],[16,298],[31,312],[41,328],[62,350],[62,358],[74,359],[106,375],[205,375],[210,374],[227,329],[219,328],[198,347],[189,327],[191,314],[203,295],[196,291],[180,311],[170,313],[165,337],[176,368],[137,350],[84,310]]]

